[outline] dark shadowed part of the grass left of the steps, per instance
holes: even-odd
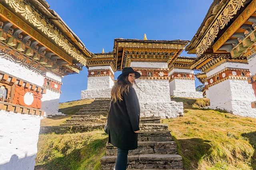
[[[34,170],[100,170],[100,158],[106,152],[106,142],[108,138],[103,140],[93,140],[82,148],[72,150],[70,153],[67,150],[52,150],[52,152],[59,152],[59,157],[47,162],[38,162]],[[54,153],[54,154],[55,154]],[[49,156],[52,156],[49,154]]]

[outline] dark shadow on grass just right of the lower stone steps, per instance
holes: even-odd
[[[195,170],[198,168],[204,156],[210,154],[211,141],[201,138],[176,139],[178,154],[182,156],[185,170]]]

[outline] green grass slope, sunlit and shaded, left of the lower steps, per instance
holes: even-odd
[[[41,134],[35,170],[100,170],[107,138],[103,130]]]

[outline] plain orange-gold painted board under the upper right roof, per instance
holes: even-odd
[[[248,20],[248,18],[256,11],[256,0],[253,0],[248,7],[236,18],[231,26],[224,32],[224,34],[212,45],[213,52],[215,53],[235,32]]]

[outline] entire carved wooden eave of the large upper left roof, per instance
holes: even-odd
[[[94,56],[44,0],[1,0],[0,40],[61,75]]]

